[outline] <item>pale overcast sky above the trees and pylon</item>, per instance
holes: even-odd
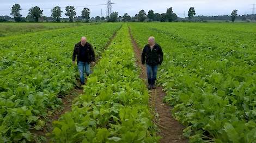
[[[190,7],[194,7],[196,15],[230,15],[234,9],[238,10],[239,15],[252,14],[253,5],[256,4],[256,0],[112,0],[115,4],[112,5],[113,11],[117,11],[118,15],[123,16],[124,13],[128,13],[130,16],[134,16],[139,10],[144,10],[147,14],[149,10],[153,10],[155,13],[166,12],[167,8],[173,7],[173,12],[179,17],[187,16],[187,11]],[[72,5],[76,8],[76,16],[81,15],[83,7],[90,9],[90,17],[97,15],[106,16],[107,0],[94,0],[94,1],[78,1],[78,0],[0,0],[0,15],[9,15],[11,6],[15,3],[21,5],[21,15],[26,17],[28,15],[29,8],[33,6],[39,6],[41,10],[44,10],[44,16],[51,16],[51,9],[54,6],[60,6],[65,12],[65,6]],[[93,6],[94,5],[94,6]],[[96,6],[97,5],[97,6]],[[256,6],[256,5],[255,5]],[[62,14],[64,16],[64,12]],[[255,10],[256,12],[256,10]]]

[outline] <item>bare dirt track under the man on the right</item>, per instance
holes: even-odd
[[[141,74],[139,77],[144,79],[145,84],[147,84],[147,73],[145,66],[141,63],[141,49],[139,49],[136,41],[131,35],[131,30],[129,27],[129,33],[131,36],[131,42],[133,46],[133,50],[135,51],[136,55],[136,64],[139,66],[139,68],[142,69]],[[164,143],[171,143],[171,142],[178,142],[178,143],[184,143],[188,142],[187,139],[185,139],[182,136],[182,130],[184,129],[184,126],[179,124],[178,121],[176,121],[172,115],[170,114],[171,107],[163,103],[163,98],[166,95],[166,93],[163,92],[162,87],[157,87],[156,89],[152,89],[150,92],[150,98],[149,98],[149,105],[154,110],[154,114],[158,114],[158,118],[155,118],[155,123],[159,127],[160,132],[158,133],[162,139],[160,142]]]

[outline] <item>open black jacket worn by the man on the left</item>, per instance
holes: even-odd
[[[93,50],[93,46],[86,42],[86,61],[87,62],[95,62],[95,53],[94,53],[94,50]],[[72,61],[75,61],[76,60],[76,57],[77,57],[77,62],[80,61],[80,42],[78,42],[77,44],[75,44],[75,48],[74,48],[74,53],[73,53],[73,58],[72,58]]]

